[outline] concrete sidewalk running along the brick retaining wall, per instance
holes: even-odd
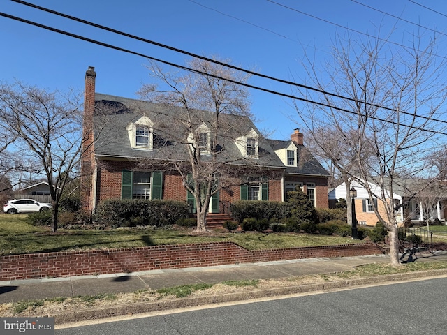
[[[446,253],[420,254],[417,262],[447,260]],[[348,271],[359,265],[389,262],[388,255],[345,258],[307,258],[279,262],[261,262],[217,267],[167,269],[132,274],[76,276],[20,281],[0,281],[0,304],[54,297],[97,295],[100,293],[158,290],[194,283],[219,283],[244,279],[270,279]]]

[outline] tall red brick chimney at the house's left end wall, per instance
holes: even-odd
[[[95,108],[95,80],[95,68],[89,66],[85,73],[84,120],[81,151],[81,203],[82,210],[85,211],[85,214],[91,214],[91,211],[93,210],[91,183],[94,172],[93,114]]]

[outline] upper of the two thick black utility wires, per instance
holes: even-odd
[[[336,98],[342,98],[342,99],[345,99],[345,100],[353,101],[353,102],[355,102],[355,103],[364,103],[364,102],[362,102],[362,101],[357,101],[357,100],[354,99],[354,98],[350,98],[350,97],[347,97],[347,96],[341,96],[341,95],[339,95],[339,94],[334,94],[334,93],[331,93],[331,92],[328,92],[328,91],[324,91],[324,90],[322,90],[322,89],[316,89],[315,87],[309,87],[309,86],[307,86],[307,85],[298,84],[298,83],[296,83],[296,82],[290,82],[290,81],[288,81],[288,80],[282,80],[282,79],[279,79],[279,78],[277,78],[277,77],[271,77],[270,75],[263,75],[263,74],[261,74],[261,73],[256,73],[256,72],[251,71],[251,70],[245,70],[244,68],[239,68],[239,67],[237,67],[237,66],[233,66],[233,65],[231,65],[231,64],[226,64],[226,63],[223,63],[223,62],[221,62],[221,61],[217,61],[217,60],[214,60],[214,59],[210,59],[210,58],[207,58],[207,57],[200,56],[200,55],[198,55],[198,54],[193,54],[192,52],[187,52],[187,51],[185,51],[185,50],[177,49],[176,47],[170,47],[170,46],[168,46],[168,45],[164,45],[164,44],[161,44],[161,43],[158,43],[158,42],[154,42],[153,40],[147,40],[146,38],[142,38],[142,37],[140,37],[140,36],[135,36],[135,35],[132,35],[132,34],[127,34],[127,33],[125,33],[124,31],[118,31],[118,30],[116,30],[116,29],[112,29],[112,28],[110,28],[110,27],[102,26],[101,24],[96,24],[96,23],[94,23],[94,22],[89,22],[89,21],[87,21],[87,20],[82,20],[82,19],[80,19],[80,18],[78,18],[78,17],[73,17],[73,16],[71,16],[71,15],[67,15],[67,14],[64,14],[64,13],[59,13],[59,12],[57,12],[57,11],[55,11],[55,10],[51,10],[51,9],[48,9],[48,8],[45,8],[45,7],[37,6],[37,5],[35,5],[34,3],[29,3],[29,2],[27,2],[27,1],[22,1],[22,0],[12,0],[12,1],[14,1],[14,2],[16,2],[16,3],[20,3],[20,4],[25,5],[25,6],[29,6],[29,7],[32,7],[32,8],[36,8],[36,9],[38,9],[38,10],[43,10],[43,11],[45,11],[45,12],[47,12],[47,13],[52,13],[52,14],[54,14],[54,15],[58,15],[58,16],[61,16],[61,17],[66,17],[66,18],[68,18],[68,19],[70,19],[70,20],[73,20],[73,21],[76,21],[76,22],[81,22],[81,23],[87,24],[87,25],[92,26],[92,27],[96,27],[96,28],[99,28],[99,29],[103,29],[103,30],[105,30],[105,31],[110,31],[110,32],[115,33],[115,34],[119,34],[119,35],[122,35],[122,36],[126,36],[126,37],[129,37],[129,38],[133,38],[133,39],[135,39],[135,40],[140,40],[140,41],[142,41],[142,42],[149,43],[149,44],[152,44],[152,45],[156,45],[156,46],[159,46],[159,47],[163,47],[163,48],[166,48],[166,49],[168,49],[168,50],[173,50],[173,51],[175,51],[175,52],[179,52],[179,53],[182,53],[182,54],[186,54],[186,55],[191,56],[191,57],[196,57],[196,58],[198,58],[198,59],[203,59],[203,60],[205,60],[205,61],[210,61],[210,62],[212,62],[212,63],[214,63],[214,64],[218,64],[218,65],[220,65],[220,66],[225,66],[225,67],[227,67],[227,68],[232,68],[233,70],[238,70],[238,71],[241,71],[241,72],[244,72],[244,73],[248,73],[249,75],[254,75],[254,76],[257,76],[257,77],[262,77],[262,78],[264,78],[264,79],[268,79],[268,80],[274,80],[274,81],[276,81],[276,82],[281,82],[282,84],[288,84],[288,85],[291,85],[291,86],[301,87],[301,88],[303,88],[303,89],[309,89],[309,90],[316,91],[316,92],[318,92],[318,93],[325,94],[325,95],[328,95],[328,96],[334,96],[334,97],[336,97]],[[272,2],[272,1],[271,1],[271,2]],[[389,110],[389,111],[391,111],[391,112],[397,112],[397,110],[394,110],[393,108],[384,107],[384,106],[381,106],[381,105],[376,105],[376,104],[374,104],[374,103],[366,103],[366,104],[367,104],[367,105],[370,105],[370,106],[372,106],[372,107],[378,107],[378,108],[381,108],[381,109],[383,109],[383,110]],[[414,114],[411,114],[411,113],[409,113],[409,112],[401,112],[401,113],[402,113],[402,114],[414,115]],[[420,117],[421,119],[427,119],[427,120],[428,120],[428,119],[431,119],[430,117],[424,117],[424,116],[420,116],[420,115],[416,115],[416,117]],[[443,120],[437,120],[437,119],[431,119],[431,120],[433,120],[433,121],[438,121],[438,122],[441,122],[441,123],[442,123],[442,122],[447,123],[447,121],[443,121]]]

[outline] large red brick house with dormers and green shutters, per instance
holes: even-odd
[[[249,118],[221,114],[219,124],[226,137],[212,143],[207,126],[212,114],[200,111],[203,122],[197,126],[198,140],[184,134],[184,140],[179,141],[178,136],[173,136],[180,133],[173,120],[184,111],[181,107],[97,94],[95,78],[94,68],[90,67],[85,77],[87,140],[81,165],[85,211],[91,212],[99,202],[117,198],[180,200],[193,207],[193,196],[184,186],[187,181],[176,169],[167,167],[188,165],[186,146],[194,141],[203,153],[202,161],[210,159],[211,146],[217,146],[223,153],[219,159],[238,173],[237,186],[214,195],[210,213],[223,213],[236,200],[283,201],[286,188],[291,187],[286,183],[302,186],[316,206],[328,207],[328,172],[312,155],[302,154],[302,140],[298,144],[283,141],[288,142],[288,147],[272,148],[272,141],[265,140]],[[284,161],[281,151],[293,151],[294,161]],[[306,157],[305,161],[300,161],[301,157]]]

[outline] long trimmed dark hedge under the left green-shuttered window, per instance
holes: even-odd
[[[96,207],[95,220],[114,227],[173,225],[188,218],[186,202],[173,200],[105,200]]]

